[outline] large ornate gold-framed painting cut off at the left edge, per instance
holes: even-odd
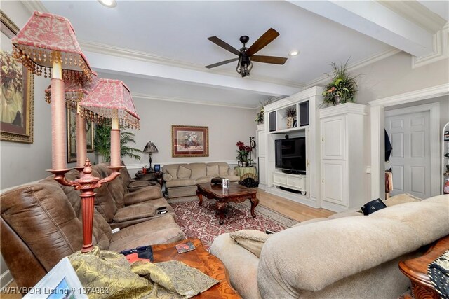
[[[19,28],[0,11],[0,139],[33,143],[33,74],[13,57]]]

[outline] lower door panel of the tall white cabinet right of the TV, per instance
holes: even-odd
[[[347,206],[347,161],[323,160],[321,165],[322,200]]]

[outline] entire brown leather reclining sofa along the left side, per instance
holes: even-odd
[[[108,172],[105,165],[93,166],[94,176]],[[77,176],[76,171],[67,173],[71,180]],[[95,190],[94,245],[121,251],[185,239],[160,187],[129,193],[125,185],[119,176]],[[157,214],[160,208],[168,212]],[[121,221],[116,222],[120,213]],[[83,244],[79,191],[61,186],[53,177],[1,194],[0,216],[1,255],[19,287],[34,286],[61,258],[79,251]],[[120,230],[112,233],[112,227]]]

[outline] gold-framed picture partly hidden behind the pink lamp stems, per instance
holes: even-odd
[[[86,150],[93,152],[94,125],[86,123]],[[67,163],[76,162],[76,112],[67,108]]]

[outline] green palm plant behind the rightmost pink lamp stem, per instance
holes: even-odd
[[[138,148],[130,148],[126,144],[133,143],[134,134],[131,132],[125,132],[121,130],[120,132],[120,156],[130,157],[136,160],[140,160],[139,153],[142,153]],[[95,151],[103,156],[105,162],[111,161],[111,125],[97,125],[95,127],[95,139],[94,139]]]

